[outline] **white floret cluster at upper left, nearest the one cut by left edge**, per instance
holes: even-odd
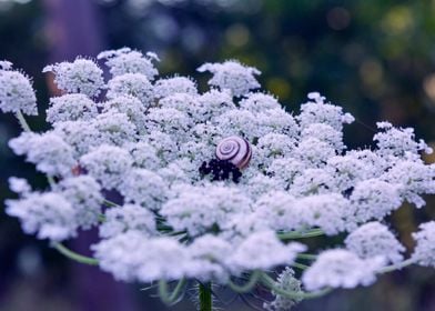
[[[58,88],[68,93],[98,97],[104,88],[103,71],[89,59],[77,58],[73,62],[50,64],[42,72],[53,72]]]

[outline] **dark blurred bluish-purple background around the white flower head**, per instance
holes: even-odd
[[[145,3],[149,2],[148,6]],[[0,60],[33,77],[44,130],[50,62],[95,57],[124,46],[155,51],[162,76],[189,74],[205,61],[240,59],[257,67],[265,90],[297,112],[305,94],[320,91],[356,117],[346,128],[351,148],[372,143],[375,122],[414,127],[435,146],[435,1],[393,0],[0,0]],[[208,4],[204,4],[208,2]],[[226,3],[226,4],[222,4]],[[7,179],[44,180],[7,147],[19,134],[11,114],[0,114],[0,202],[13,198]],[[434,162],[435,157],[426,157]],[[422,210],[404,205],[391,217],[411,251],[411,232],[434,219],[435,199]],[[71,247],[85,252],[88,233]],[[338,241],[333,241],[338,242]],[[322,244],[320,239],[311,244]],[[324,243],[323,243],[324,245]],[[84,250],[83,250],[84,249]],[[0,203],[0,310],[168,310],[141,285],[115,283],[97,268],[62,258],[45,241],[21,232]],[[225,310],[250,310],[234,302]],[[193,310],[189,302],[171,310]],[[435,310],[435,272],[411,268],[380,278],[371,288],[335,291],[295,310]]]

